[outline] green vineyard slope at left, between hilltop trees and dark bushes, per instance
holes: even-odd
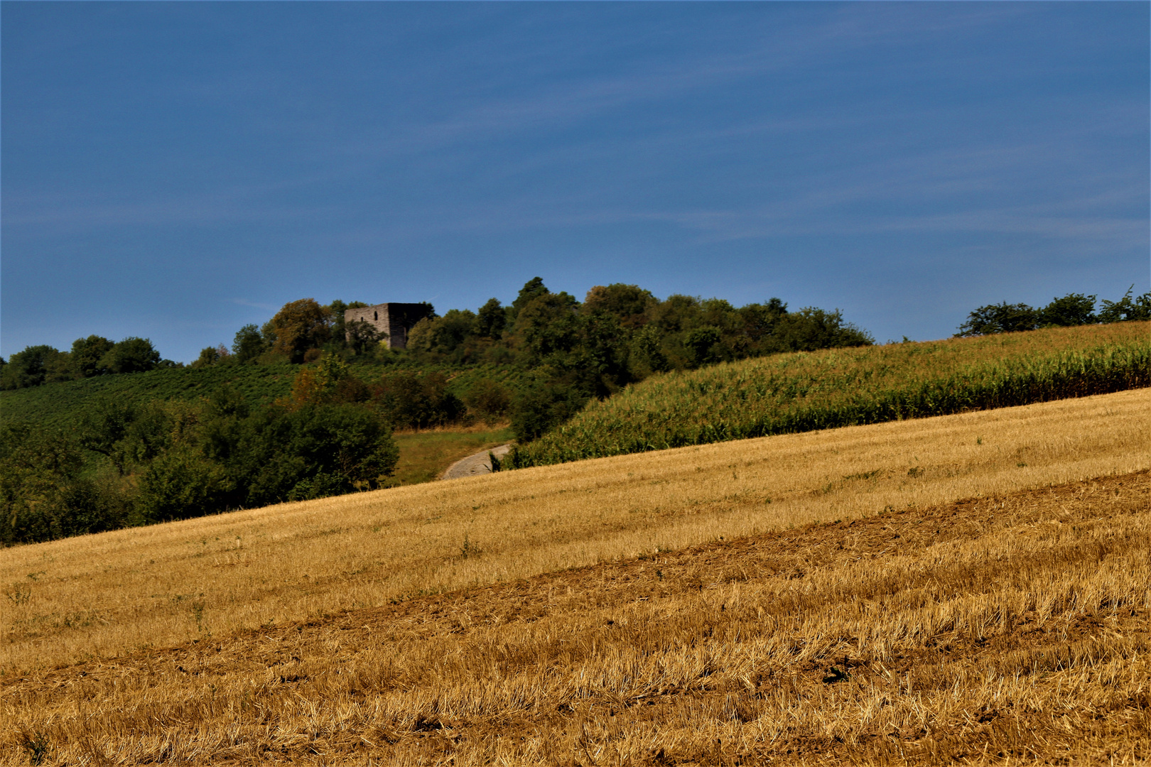
[[[372,383],[397,369],[442,369],[450,378],[449,390],[463,394],[481,378],[518,385],[523,373],[511,366],[475,366],[470,368],[429,368],[413,365],[357,365],[352,371]],[[83,381],[45,384],[30,389],[0,392],[0,417],[36,424],[71,421],[92,397],[112,394],[137,402],[153,399],[195,400],[223,385],[243,394],[252,405],[267,404],[291,391],[299,366],[295,365],[221,365],[206,368],[169,368],[129,375],[99,376]]]

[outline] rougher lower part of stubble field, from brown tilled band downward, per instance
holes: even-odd
[[[1144,764],[1146,471],[9,680],[8,764]],[[21,746],[23,743],[23,747]]]

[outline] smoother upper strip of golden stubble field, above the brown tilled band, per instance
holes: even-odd
[[[395,488],[0,552],[8,677],[719,537],[1146,468],[1151,392]]]

